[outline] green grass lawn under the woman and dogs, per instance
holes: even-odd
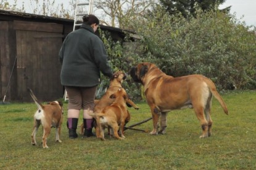
[[[41,145],[42,128],[36,137],[38,145],[31,145],[34,103],[1,104],[0,169],[255,169],[256,91],[221,96],[229,115],[213,99],[212,136],[206,139],[199,139],[202,130],[192,109],[170,112],[164,135],[127,129],[122,141],[107,134],[106,141],[81,136],[69,139],[65,103],[62,143],[55,142],[52,129],[49,149]],[[127,126],[151,117],[145,102],[138,106],[139,110],[129,108],[131,122]],[[152,120],[134,128],[151,131]]]

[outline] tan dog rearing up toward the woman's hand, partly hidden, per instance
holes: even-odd
[[[122,83],[123,83],[123,80],[125,79],[126,79],[126,75],[123,71],[117,71],[114,73],[112,79],[110,80],[109,88],[107,88],[107,91],[105,92],[105,94],[102,96],[101,99],[94,100],[94,104],[95,104],[94,113],[100,113],[101,110],[104,109],[104,107],[109,106],[110,104],[112,104],[112,102],[115,101],[115,99],[112,99],[109,97],[110,95],[115,93],[115,91],[117,91],[119,88],[122,88]],[[134,102],[131,101],[130,99],[127,100],[127,103],[130,104],[130,106],[133,106],[134,109],[139,109],[139,107],[136,106]],[[85,128],[82,124],[81,134],[83,134],[84,131],[85,131]],[[99,129],[97,129],[97,127],[96,127],[96,136],[99,137]]]

